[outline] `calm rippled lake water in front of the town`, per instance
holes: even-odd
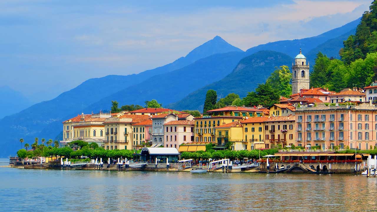
[[[376,211],[352,175],[0,168],[0,211]]]

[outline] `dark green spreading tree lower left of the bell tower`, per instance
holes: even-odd
[[[270,107],[273,104],[279,103],[279,91],[273,88],[270,83],[258,84],[255,92],[249,92],[242,102],[246,106],[253,106],[261,104],[265,107]]]

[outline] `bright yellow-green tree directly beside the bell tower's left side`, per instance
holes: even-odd
[[[288,66],[275,68],[276,70],[267,78],[266,83],[271,84],[273,88],[277,88],[280,96],[289,97],[292,95],[292,85],[290,84],[292,73]]]

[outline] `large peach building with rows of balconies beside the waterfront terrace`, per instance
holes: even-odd
[[[376,145],[377,107],[371,103],[358,106],[296,108],[295,145],[320,146],[320,149],[370,149]]]

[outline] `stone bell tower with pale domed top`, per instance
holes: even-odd
[[[306,57],[298,54],[292,63],[292,94],[297,94],[301,89],[309,89],[309,63],[306,64]]]

